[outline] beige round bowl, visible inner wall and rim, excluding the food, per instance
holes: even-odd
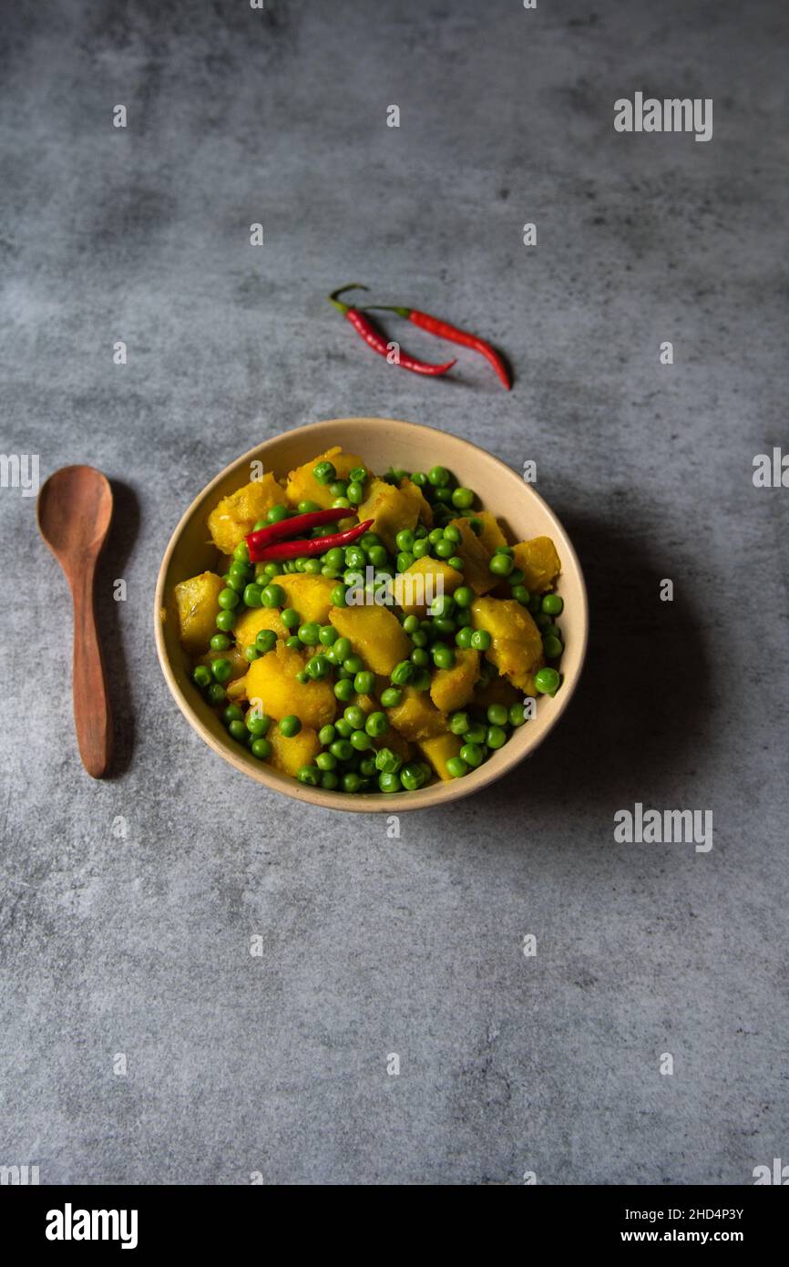
[[[341,445],[348,452],[361,454],[369,468],[375,471],[385,471],[389,466],[401,466],[405,470],[429,470],[437,464],[447,466],[461,484],[471,487],[479,494],[485,509],[493,511],[499,517],[512,533],[513,541],[548,536],[553,538],[559,550],[562,573],[557,589],[565,601],[561,616],[561,628],[565,635],[561,688],[553,699],[541,696],[537,716],[515,730],[512,739],[484,765],[451,783],[432,783],[418,792],[396,794],[382,792],[348,794],[298,783],[244,754],[243,749],[228,736],[219,717],[190,680],[190,663],[179,642],[171,595],[180,580],[213,569],[217,564],[217,550],[208,541],[205,527],[208,513],[220,498],[249,481],[252,461],[261,461],[265,470],[272,470],[281,476],[332,445]],[[588,621],[586,588],[575,550],[561,523],[540,494],[498,457],[469,443],[467,440],[434,431],[432,427],[419,427],[412,422],[395,422],[391,418],[337,418],[331,422],[315,422],[296,431],[287,431],[274,440],[266,440],[243,457],[230,462],[203,489],[181,518],[165,551],[156,584],[156,649],[162,673],[179,708],[201,739],[236,769],[276,792],[329,810],[363,813],[401,813],[405,810],[423,810],[456,801],[471,792],[479,792],[533,753],[570,703],[586,651]]]

